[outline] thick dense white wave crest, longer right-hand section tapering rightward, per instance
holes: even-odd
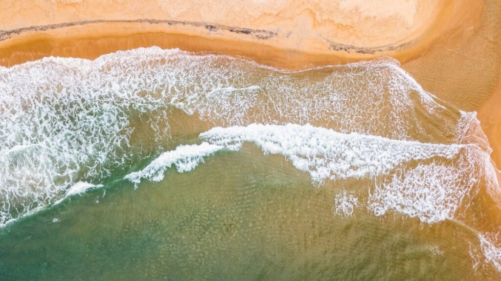
[[[201,133],[200,138],[225,147],[253,142],[265,153],[287,156],[296,168],[310,173],[317,183],[326,178],[361,178],[388,173],[410,160],[451,159],[466,147],[345,134],[309,124],[215,127]]]

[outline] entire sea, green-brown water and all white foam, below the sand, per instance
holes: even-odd
[[[490,151],[392,58],[0,67],[0,279],[498,279]]]

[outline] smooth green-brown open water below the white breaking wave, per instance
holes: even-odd
[[[0,231],[6,280],[476,279],[468,238],[363,209],[333,214],[339,188],[313,187],[282,156],[254,145],[135,190],[117,181]],[[57,220],[57,221],[56,221]],[[444,237],[442,235],[447,235]],[[492,274],[493,272],[487,274]],[[486,274],[485,271],[481,274]],[[487,275],[488,276],[488,275]]]

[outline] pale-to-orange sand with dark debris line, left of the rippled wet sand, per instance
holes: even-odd
[[[413,10],[405,10],[409,6],[395,2],[394,10],[388,12],[377,6],[364,11],[364,5],[357,1],[346,4],[350,1],[338,0],[322,6],[316,1],[299,3],[292,0],[273,7],[253,7],[241,17],[222,7],[223,13],[230,18],[217,19],[196,11],[185,15],[150,12],[148,14],[155,16],[151,19],[138,19],[137,14],[130,12],[110,18],[103,14],[104,11],[89,11],[67,18],[65,15],[71,11],[93,3],[79,1],[61,5],[62,2],[56,1],[59,5],[50,7],[53,19],[35,14],[34,6],[25,7],[29,9],[26,14],[33,15],[29,20],[22,21],[18,15],[0,21],[0,65],[9,66],[45,56],[93,59],[117,50],[153,45],[240,55],[287,69],[381,56],[405,62],[419,56],[444,32],[461,24],[456,19],[461,15],[461,10],[456,8],[457,1],[415,0],[411,1]],[[337,10],[327,13],[326,8]],[[100,10],[98,4],[96,10]],[[270,10],[276,14],[269,14]],[[362,19],[374,30],[361,23]],[[367,34],[357,35],[360,30],[367,30]]]

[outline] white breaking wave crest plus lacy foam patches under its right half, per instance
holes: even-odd
[[[217,150],[238,150],[243,142],[252,142],[265,154],[286,156],[296,168],[308,172],[316,185],[325,179],[377,179],[379,184],[369,193],[370,211],[384,215],[392,210],[427,223],[454,219],[466,194],[482,184],[495,183],[485,172],[488,154],[474,144],[393,140],[308,124],[215,127],[199,138],[201,144],[164,152],[126,178],[135,183],[141,178],[158,181],[172,164],[180,172],[191,170]],[[351,214],[349,209],[358,200],[346,192],[338,195],[336,211]]]

